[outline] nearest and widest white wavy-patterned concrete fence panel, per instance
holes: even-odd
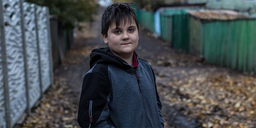
[[[13,125],[27,108],[24,49],[22,44],[22,20],[20,1],[4,0],[4,36],[7,62],[7,78],[10,119]],[[3,42],[4,43],[4,42]],[[6,83],[5,83],[6,84]],[[8,103],[6,102],[6,103]]]

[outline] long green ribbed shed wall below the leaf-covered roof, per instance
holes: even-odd
[[[200,49],[207,62],[256,72],[255,19],[205,22],[190,18],[190,21],[194,23],[190,24],[190,48]],[[200,31],[195,34],[193,29]],[[200,44],[192,43],[196,40]]]

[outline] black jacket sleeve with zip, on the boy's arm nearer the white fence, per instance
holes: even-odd
[[[99,119],[109,93],[110,83],[106,77],[96,72],[84,76],[77,117],[80,127],[92,127],[96,124],[101,124],[97,127],[112,127],[107,124],[107,119]]]

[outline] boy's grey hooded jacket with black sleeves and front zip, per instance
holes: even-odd
[[[164,127],[154,72],[136,56],[138,68],[109,48],[92,50],[78,109],[81,127]]]

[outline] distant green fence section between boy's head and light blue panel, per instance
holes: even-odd
[[[140,10],[140,24],[151,32],[155,32],[154,13],[149,11]]]

